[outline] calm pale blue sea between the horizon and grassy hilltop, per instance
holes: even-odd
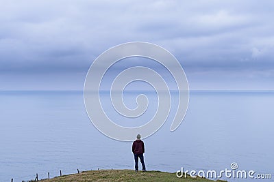
[[[137,93],[127,93],[125,104],[134,108]],[[108,94],[103,107],[120,125],[139,125],[153,116],[157,104],[149,95],[148,113],[140,121],[119,119],[111,111]],[[230,168],[270,173],[274,180],[274,93],[270,91],[191,91],[188,112],[175,132],[171,115],[152,136],[145,138],[147,170],[176,172]],[[0,92],[0,181],[22,181],[76,173],[79,170],[134,169],[132,143],[101,134],[86,114],[81,91]],[[151,106],[151,108],[150,108]],[[112,114],[111,114],[112,113]],[[139,123],[138,123],[139,122]]]

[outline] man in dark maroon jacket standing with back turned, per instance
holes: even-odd
[[[137,139],[132,144],[132,153],[134,154],[134,160],[135,160],[135,171],[138,172],[138,158],[140,158],[140,161],[142,163],[142,171],[145,170],[145,162],[144,162],[144,155],[145,153],[145,145],[142,140],[140,140],[141,136],[140,134],[137,135]]]

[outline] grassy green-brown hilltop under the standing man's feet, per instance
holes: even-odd
[[[204,181],[210,182],[212,180],[202,178],[191,178],[188,176],[185,178],[177,178],[176,173],[161,172],[161,171],[147,171],[147,172],[135,172],[134,170],[89,170],[81,172],[79,174],[64,175],[62,177],[55,177],[53,179],[41,180],[43,182],[72,182],[72,181],[183,181],[183,182],[195,182]],[[221,182],[221,180],[218,180]]]

